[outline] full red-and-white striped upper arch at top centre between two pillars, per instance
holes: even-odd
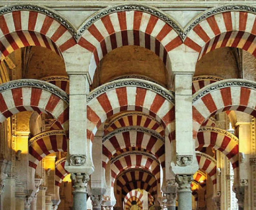
[[[96,14],[95,17],[97,16],[99,15]],[[180,46],[182,40],[167,22],[153,14],[135,9],[114,12],[96,20],[84,31],[78,44],[91,53],[89,73],[93,78],[99,61],[111,50],[126,45],[137,45],[152,50],[168,69],[168,52]]]

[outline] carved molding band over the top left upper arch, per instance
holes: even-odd
[[[69,30],[69,32],[75,37],[76,30],[75,30],[74,26],[72,26],[72,24],[65,17],[58,14],[56,11],[51,10],[42,5],[23,3],[23,4],[3,6],[0,8],[0,15],[14,12],[14,11],[20,11],[20,10],[34,11],[34,12],[39,12],[44,15],[47,15],[47,16],[55,19],[57,22],[59,22],[65,28],[67,28]]]

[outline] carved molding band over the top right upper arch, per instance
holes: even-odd
[[[182,40],[184,41],[189,34],[189,32],[197,26],[201,21],[207,19],[208,17],[211,17],[213,15],[216,15],[218,13],[223,13],[223,12],[229,12],[229,11],[244,11],[244,12],[250,12],[256,14],[256,7],[254,6],[249,6],[249,5],[222,5],[222,6],[217,6],[214,8],[211,8],[207,11],[205,11],[203,14],[200,14],[195,20],[191,21],[184,29],[184,32],[182,33],[181,37]]]

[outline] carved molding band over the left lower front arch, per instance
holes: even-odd
[[[41,81],[37,79],[17,79],[17,80],[6,82],[0,85],[0,93],[6,90],[11,90],[14,88],[22,88],[22,87],[40,88],[40,89],[49,91],[57,95],[58,97],[60,97],[67,104],[69,104],[69,95],[65,91],[61,90],[60,88],[58,88],[57,86],[49,82]]]

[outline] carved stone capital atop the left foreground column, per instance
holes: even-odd
[[[75,189],[75,192],[86,193],[87,182],[90,180],[90,176],[88,174],[83,174],[83,173],[71,174],[71,180],[72,180],[73,188]]]

